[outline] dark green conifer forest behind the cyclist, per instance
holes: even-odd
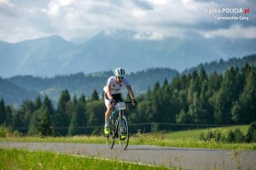
[[[123,96],[130,100],[128,96]],[[137,108],[128,109],[131,125],[147,122],[196,125],[249,124],[256,121],[256,67],[231,67],[207,74],[204,68],[180,74],[171,82],[155,82],[145,94],[136,97]],[[55,108],[47,95],[26,99],[20,108],[0,99],[0,126],[27,135],[66,136],[101,134],[105,105],[96,90],[85,97],[71,96],[63,89]],[[137,128],[131,127],[131,132]],[[176,130],[177,127],[156,127]]]

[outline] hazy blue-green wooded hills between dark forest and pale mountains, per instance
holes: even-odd
[[[146,93],[148,88],[152,88],[155,82],[164,82],[165,79],[171,81],[177,76],[178,71],[169,68],[154,68],[143,71],[132,72],[127,75],[135,94]],[[35,99],[37,96],[48,95],[54,104],[58,102],[61,91],[67,89],[71,97],[74,94],[80,97],[85,94],[90,99],[90,94],[96,90],[102,97],[103,87],[106,85],[108,77],[113,76],[113,71],[102,71],[91,74],[79,72],[68,76],[57,77],[32,77],[15,76],[9,78],[0,77],[0,99],[4,99],[7,104],[20,105],[25,99]],[[125,90],[124,90],[125,92]]]

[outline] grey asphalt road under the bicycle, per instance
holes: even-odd
[[[254,150],[206,150],[145,145],[129,145],[127,150],[120,150],[118,144],[113,147],[113,150],[109,150],[107,144],[14,142],[0,142],[0,147],[49,150],[182,169],[256,169],[256,151]]]

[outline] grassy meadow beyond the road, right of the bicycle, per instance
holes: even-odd
[[[249,126],[230,126],[218,127],[224,129],[224,135],[227,136],[230,130],[239,128],[243,134],[247,134]],[[206,149],[224,149],[224,150],[256,150],[256,143],[225,143],[211,141],[202,141],[199,139],[201,133],[209,128],[193,129],[186,131],[178,131],[173,133],[153,133],[136,135],[131,144],[148,144],[169,147],[182,148],[206,148]]]

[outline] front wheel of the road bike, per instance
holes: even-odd
[[[119,117],[118,136],[120,147],[126,150],[129,143],[129,127],[125,116]]]

